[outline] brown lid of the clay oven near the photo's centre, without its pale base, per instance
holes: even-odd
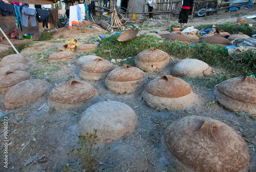
[[[125,82],[143,79],[145,76],[145,73],[139,68],[124,65],[111,71],[107,78],[111,81]]]

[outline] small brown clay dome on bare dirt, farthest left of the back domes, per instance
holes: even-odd
[[[53,53],[49,56],[48,63],[55,62],[55,61],[72,59],[74,57],[75,57],[75,53],[73,53],[71,51],[55,52],[55,53]]]

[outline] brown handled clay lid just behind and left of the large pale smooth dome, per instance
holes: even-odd
[[[70,79],[52,89],[49,98],[59,103],[78,103],[86,101],[96,94],[96,89],[90,83]]]

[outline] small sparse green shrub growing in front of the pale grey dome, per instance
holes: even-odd
[[[68,156],[77,160],[82,169],[85,171],[93,172],[98,171],[98,167],[102,158],[109,153],[110,147],[105,149],[105,154],[102,153],[102,149],[96,146],[97,130],[94,129],[94,133],[87,133],[86,136],[78,136],[79,148],[72,149]],[[65,166],[68,169],[69,166]]]

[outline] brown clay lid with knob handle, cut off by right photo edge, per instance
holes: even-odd
[[[256,103],[256,79],[251,76],[227,79],[217,85],[218,90],[227,97]]]

